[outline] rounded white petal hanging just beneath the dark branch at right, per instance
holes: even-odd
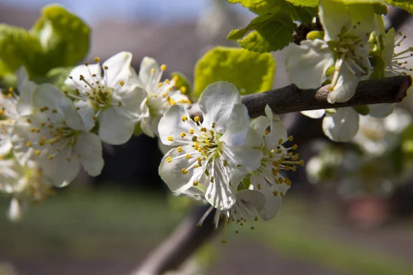
[[[326,113],[323,119],[324,134],[335,142],[348,142],[359,129],[359,113],[351,107]]]

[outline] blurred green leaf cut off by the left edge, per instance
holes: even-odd
[[[0,76],[14,73],[21,65],[33,75],[43,67],[42,57],[39,39],[23,28],[0,24]]]

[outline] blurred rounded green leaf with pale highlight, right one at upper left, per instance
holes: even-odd
[[[61,5],[47,5],[30,30],[47,55],[49,69],[74,66],[89,50],[89,27]]]

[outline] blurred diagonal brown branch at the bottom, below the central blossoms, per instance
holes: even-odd
[[[195,226],[209,207],[208,205],[195,208],[188,217],[181,221],[175,232],[162,241],[160,246],[151,252],[138,270],[134,270],[131,275],[163,274],[179,267],[213,234],[214,211],[204,220],[202,227]]]

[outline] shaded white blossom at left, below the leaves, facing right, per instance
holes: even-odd
[[[70,98],[53,85],[39,85],[33,94],[34,113],[14,125],[14,156],[25,165],[34,157],[56,186],[76,177],[80,164],[96,176],[103,168],[98,136],[88,133]]]

